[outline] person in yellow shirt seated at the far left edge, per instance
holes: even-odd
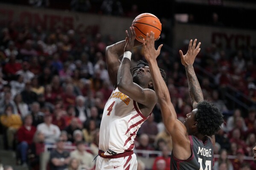
[[[0,122],[6,130],[8,149],[12,149],[14,135],[22,125],[21,116],[13,114],[12,105],[6,105],[4,114],[0,117]]]

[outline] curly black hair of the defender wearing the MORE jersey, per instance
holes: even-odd
[[[212,136],[221,129],[224,119],[218,107],[208,101],[201,101],[197,104],[195,121],[197,121],[198,133]]]

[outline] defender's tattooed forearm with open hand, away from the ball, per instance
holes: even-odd
[[[200,44],[198,43],[197,48],[195,48],[197,43],[197,39],[194,40],[193,46],[192,46],[192,40],[189,42],[188,46],[188,52],[187,54],[183,55],[183,52],[179,50],[179,54],[181,57],[181,63],[183,66],[185,66],[186,74],[188,78],[188,89],[189,89],[189,95],[191,98],[191,104],[193,106],[193,109],[197,108],[197,103],[200,101],[203,101],[203,92],[201,90],[200,84],[197,80],[197,76],[194,72],[194,59],[196,58],[197,54],[200,52]]]

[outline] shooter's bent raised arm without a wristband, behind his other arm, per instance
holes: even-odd
[[[119,57],[124,55],[125,44],[126,44],[125,40],[123,40],[111,46],[106,47],[107,70],[109,73],[110,81],[114,86],[114,89],[117,87],[117,77],[118,77],[117,75],[118,75],[118,69],[121,63],[121,61],[119,60]],[[137,40],[135,40],[134,47],[141,46],[141,45],[142,43],[139,43]]]

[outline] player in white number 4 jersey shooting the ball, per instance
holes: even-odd
[[[114,91],[105,105],[100,124],[96,170],[137,170],[133,141],[157,102],[147,63],[140,61],[137,67],[130,69],[132,48],[142,43],[135,40],[133,27],[126,35],[126,40],[106,48],[106,63]],[[165,73],[161,72],[165,80]]]

